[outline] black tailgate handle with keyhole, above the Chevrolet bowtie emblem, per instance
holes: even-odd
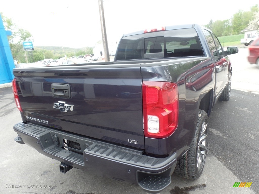
[[[71,91],[69,84],[51,84],[51,92],[53,96],[70,98]]]

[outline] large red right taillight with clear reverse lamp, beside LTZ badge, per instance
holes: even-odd
[[[142,94],[145,137],[170,136],[178,125],[177,84],[143,81]]]

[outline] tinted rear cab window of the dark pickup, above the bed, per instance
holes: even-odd
[[[116,60],[204,56],[194,28],[175,29],[125,36]]]

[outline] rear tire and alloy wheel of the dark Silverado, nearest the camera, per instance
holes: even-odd
[[[184,178],[196,180],[202,174],[207,153],[208,116],[199,110],[195,135],[189,150],[177,161],[175,173]]]

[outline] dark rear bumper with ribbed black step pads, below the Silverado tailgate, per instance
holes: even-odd
[[[15,124],[13,128],[18,133],[19,138],[15,139],[18,143],[25,143],[41,154],[99,176],[139,185],[148,192],[160,192],[170,184],[170,176],[177,162],[177,153],[167,158],[154,158],[143,155],[139,150],[107,144],[34,124],[21,122]],[[69,149],[81,152],[81,154],[64,149],[66,140],[79,143],[81,151]],[[149,188],[149,184],[145,184],[146,179],[150,179],[153,186]],[[159,179],[160,182],[156,182]]]

